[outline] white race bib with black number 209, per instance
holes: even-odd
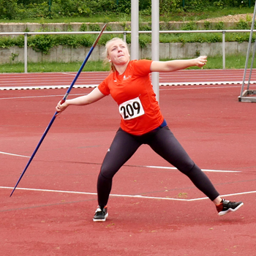
[[[144,115],[143,105],[140,102],[140,98],[129,99],[119,105],[119,113],[124,118],[124,120],[129,120],[136,118],[138,116]]]

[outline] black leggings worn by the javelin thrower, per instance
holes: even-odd
[[[142,144],[148,144],[159,156],[187,175],[211,200],[219,196],[209,178],[190,159],[167,126],[140,136],[130,135],[119,128],[99,172],[97,181],[99,206],[107,205],[113,176]]]

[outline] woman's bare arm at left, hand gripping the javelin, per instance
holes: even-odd
[[[102,94],[102,92],[99,91],[98,88],[95,88],[89,94],[83,95],[81,97],[77,97],[75,99],[67,99],[63,104],[61,104],[61,101],[60,101],[56,106],[56,111],[58,113],[61,113],[69,105],[89,105],[91,103],[97,102],[99,99],[102,99],[103,97],[105,97],[105,95]]]

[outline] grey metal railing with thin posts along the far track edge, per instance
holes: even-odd
[[[181,34],[181,33],[222,33],[222,69],[225,69],[225,34],[226,33],[245,33],[249,29],[242,30],[166,30],[159,31],[160,34]],[[256,30],[253,30],[254,32]],[[126,41],[127,34],[132,31],[104,31],[103,34],[123,34]],[[1,32],[1,35],[23,35],[24,36],[24,72],[28,72],[28,36],[35,34],[99,34],[99,31],[58,31],[58,32]],[[151,34],[151,31],[139,31],[139,34]]]

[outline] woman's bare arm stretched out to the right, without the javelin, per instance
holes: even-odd
[[[200,56],[196,59],[182,59],[174,61],[152,61],[151,72],[171,72],[187,67],[203,67],[207,62],[207,56]]]

